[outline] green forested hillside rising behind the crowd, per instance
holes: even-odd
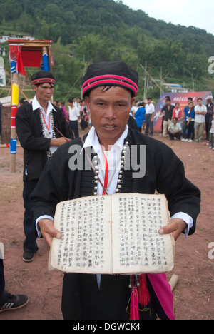
[[[90,61],[125,61],[140,74],[212,90],[208,59],[214,36],[193,26],[152,19],[113,0],[0,0],[0,34],[28,33],[54,42],[56,98],[80,94],[84,66]],[[6,57],[7,59],[7,57]],[[29,72],[29,75],[31,71]],[[153,89],[158,97],[160,90]]]

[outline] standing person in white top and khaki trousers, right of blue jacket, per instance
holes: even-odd
[[[198,105],[195,106],[195,141],[201,142],[205,128],[205,115],[207,113],[207,107],[203,105],[202,98],[198,98],[197,102]]]

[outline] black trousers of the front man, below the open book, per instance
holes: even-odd
[[[62,313],[64,320],[129,320],[131,288],[129,275],[65,274]],[[142,320],[156,320],[153,303],[139,305]],[[142,309],[142,310],[141,310]]]

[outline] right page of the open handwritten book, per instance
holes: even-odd
[[[173,269],[173,236],[160,235],[168,225],[164,195],[112,196],[113,273],[165,273]]]

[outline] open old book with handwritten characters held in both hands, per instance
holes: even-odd
[[[58,203],[49,269],[66,273],[165,273],[173,269],[173,236],[164,195],[121,193]]]

